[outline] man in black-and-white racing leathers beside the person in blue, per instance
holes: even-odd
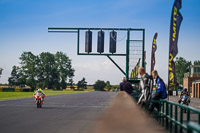
[[[151,99],[153,79],[146,73],[144,67],[140,67],[139,74],[141,76],[139,85],[140,96],[137,104],[143,107],[146,102]]]

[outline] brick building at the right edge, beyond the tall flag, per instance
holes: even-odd
[[[187,88],[190,93],[192,92],[192,84],[200,80],[200,65],[191,65],[190,72],[184,74],[183,88]]]

